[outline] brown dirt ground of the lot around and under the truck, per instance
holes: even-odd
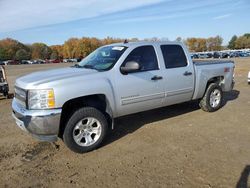
[[[235,62],[219,111],[190,102],[123,117],[86,154],[36,141],[15,125],[11,99],[0,99],[0,187],[249,187],[250,58]],[[69,65],[7,66],[11,91],[16,77],[59,66]]]

